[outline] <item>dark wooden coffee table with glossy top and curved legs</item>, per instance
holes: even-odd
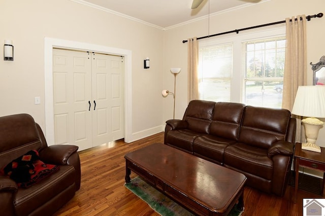
[[[162,143],[124,156],[125,182],[131,170],[198,215],[228,215],[238,201],[244,208],[246,176]]]

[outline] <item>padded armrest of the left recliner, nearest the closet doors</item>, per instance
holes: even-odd
[[[71,155],[77,152],[79,147],[73,145],[53,145],[40,152],[40,158],[45,163],[65,165]]]

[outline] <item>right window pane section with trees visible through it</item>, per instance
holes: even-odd
[[[242,43],[245,104],[281,108],[285,38]]]

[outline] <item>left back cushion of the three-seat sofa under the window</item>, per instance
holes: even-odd
[[[188,103],[183,120],[188,129],[199,133],[209,133],[215,102],[192,100]]]

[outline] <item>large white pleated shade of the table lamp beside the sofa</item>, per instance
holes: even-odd
[[[325,86],[299,86],[292,114],[325,118]]]

